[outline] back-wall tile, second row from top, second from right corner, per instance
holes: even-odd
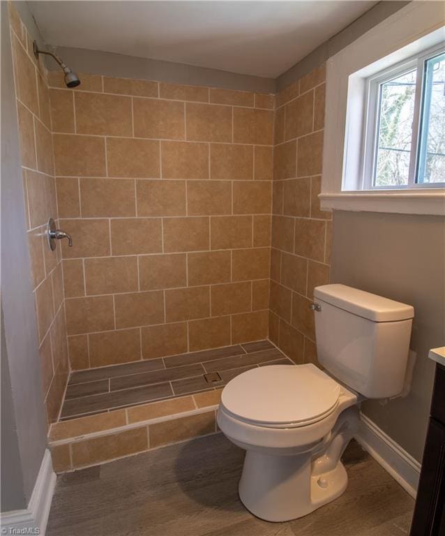
[[[232,142],[232,108],[186,104],[187,139],[197,142]]]

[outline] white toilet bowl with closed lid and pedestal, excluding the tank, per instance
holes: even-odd
[[[229,382],[217,419],[246,450],[243,505],[266,521],[288,521],[340,496],[347,486],[340,456],[358,401],[312,364],[263,366]]]

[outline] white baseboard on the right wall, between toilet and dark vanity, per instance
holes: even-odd
[[[415,499],[421,464],[362,412],[355,438],[363,449],[369,452],[372,458]]]

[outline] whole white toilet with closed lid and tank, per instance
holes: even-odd
[[[359,404],[405,385],[414,308],[351,288],[314,290],[313,364],[253,368],[223,389],[218,426],[246,450],[239,497],[255,516],[289,521],[340,496],[340,461]]]

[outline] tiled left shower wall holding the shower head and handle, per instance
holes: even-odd
[[[59,416],[68,376],[60,246],[50,251],[45,230],[57,218],[47,72],[32,53],[32,39],[10,4],[17,121],[22,154],[27,239],[36,304],[40,371],[47,423]]]

